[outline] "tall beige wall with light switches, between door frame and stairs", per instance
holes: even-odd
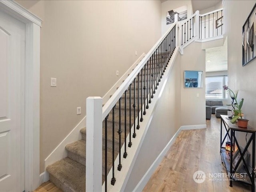
[[[45,158],[86,115],[86,98],[104,96],[160,38],[161,2],[17,2],[43,19],[40,39],[40,172],[43,172]],[[57,87],[50,87],[51,77],[57,78]],[[82,107],[81,115],[76,115],[78,106]]]

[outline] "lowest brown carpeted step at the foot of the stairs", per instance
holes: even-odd
[[[52,176],[54,184],[64,192],[85,192],[84,165],[67,157],[49,165],[46,170],[50,180]]]

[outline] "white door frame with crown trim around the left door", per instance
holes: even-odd
[[[40,27],[42,20],[15,1],[0,10],[26,24],[25,48],[25,191],[40,186]]]

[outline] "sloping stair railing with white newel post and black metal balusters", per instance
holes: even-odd
[[[151,48],[151,50],[146,54],[146,56],[140,61],[138,66],[134,68],[131,74],[124,80],[121,86],[114,92],[111,98],[106,102],[102,107],[102,99],[99,97],[89,97],[86,100],[86,191],[98,192],[101,190],[107,191],[108,188],[111,188],[111,185],[115,185],[117,182],[124,182],[122,178],[115,178],[116,172],[124,171],[122,169],[120,158],[126,158],[127,153],[124,152],[124,156],[120,154],[121,149],[121,134],[124,132],[126,134],[126,124],[121,128],[121,98],[125,95],[126,103],[126,92],[129,92],[130,95],[130,106],[131,98],[133,99],[133,110],[134,110],[134,122],[132,125],[130,123],[129,134],[130,141],[128,140],[129,136],[125,139],[124,148],[126,145],[131,147],[131,132],[132,139],[136,138],[136,132],[138,132],[140,126],[139,123],[143,121],[142,116],[146,115],[146,109],[150,106],[151,99],[154,97],[155,91],[160,84],[162,75],[164,75],[166,66],[174,52],[178,47],[178,15],[175,14],[174,23],[170,29],[164,34],[158,42]],[[137,86],[138,85],[138,86]],[[133,89],[132,89],[133,88]],[[133,90],[133,91],[132,91]],[[133,97],[132,97],[133,96]],[[114,128],[115,115],[118,111],[115,111],[116,105],[119,104],[119,129]],[[101,107],[100,107],[101,105]],[[117,110],[117,109],[116,109]],[[129,110],[129,108],[127,109]],[[143,112],[144,110],[144,112]],[[126,111],[126,104],[125,104]],[[130,107],[131,111],[131,107]],[[111,116],[110,116],[111,113]],[[136,113],[136,116],[135,116]],[[112,168],[110,169],[109,174],[107,175],[107,129],[110,129],[107,125],[108,118],[112,118]],[[135,119],[138,119],[138,122],[135,122]],[[126,121],[126,120],[125,120]],[[102,122],[105,125],[105,132],[102,132]],[[137,125],[135,127],[135,124]],[[131,128],[132,126],[132,128]],[[118,130],[118,131],[117,131]],[[123,131],[124,130],[124,131]],[[118,133],[119,136],[119,155],[114,157],[114,144],[118,142],[115,140],[114,134]],[[116,133],[116,134],[117,134]],[[105,136],[105,148],[102,148],[102,135]],[[123,137],[123,136],[122,136]],[[128,140],[126,142],[126,140]],[[102,187],[102,150],[105,150],[105,182]],[[126,155],[125,155],[126,153]],[[129,154],[128,154],[129,155]],[[116,158],[116,159],[115,159]],[[119,162],[118,162],[119,158]],[[118,162],[118,163],[116,163]],[[117,166],[118,164],[118,166]],[[109,170],[108,170],[109,171]],[[111,178],[111,179],[110,179]],[[110,185],[111,184],[111,185]]]

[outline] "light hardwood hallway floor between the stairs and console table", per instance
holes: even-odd
[[[206,129],[182,130],[143,192],[249,192],[250,186],[233,182],[228,177],[210,180],[209,174],[226,170],[220,156],[220,119],[212,115]],[[201,170],[206,179],[194,182],[194,172]],[[219,180],[218,180],[219,179]]]

